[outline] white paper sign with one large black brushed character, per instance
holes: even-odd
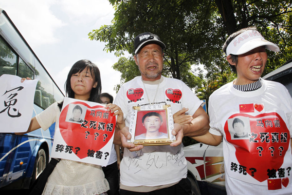
[[[38,79],[20,80],[14,75],[0,77],[0,133],[26,132],[29,127]]]

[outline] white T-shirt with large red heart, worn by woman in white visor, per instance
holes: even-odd
[[[232,84],[222,86],[209,99],[209,132],[223,136],[227,194],[291,195],[292,98],[288,90],[264,79],[262,87],[251,92],[238,91]],[[238,119],[248,137],[234,137]]]

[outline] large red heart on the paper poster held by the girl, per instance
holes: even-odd
[[[59,119],[61,136],[68,146],[73,146],[80,150],[76,154],[80,159],[88,156],[88,150],[95,152],[102,149],[113,136],[116,117],[107,111],[102,105],[89,106],[85,102],[75,101],[71,104],[81,104],[87,107],[82,123],[65,121],[69,105],[62,110]]]

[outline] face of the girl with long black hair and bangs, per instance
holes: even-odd
[[[90,98],[91,89],[97,86],[97,82],[92,78],[88,68],[85,68],[80,73],[73,74],[70,84],[74,92],[74,98],[81,100],[88,100]]]

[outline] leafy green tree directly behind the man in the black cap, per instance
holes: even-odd
[[[198,0],[110,2],[116,3],[112,25],[89,33],[91,40],[107,42],[105,51],[114,51],[116,56],[123,55],[124,51],[133,53],[134,38],[140,33],[152,32],[167,45],[164,75],[182,79],[193,86],[192,66],[205,64],[210,67],[210,62],[216,61],[210,58],[220,60],[221,51],[213,49],[219,39],[212,33],[217,26],[214,25],[216,7],[211,0],[204,5]]]

